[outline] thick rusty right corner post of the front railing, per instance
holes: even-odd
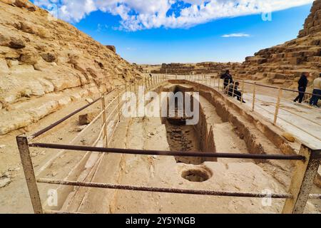
[[[301,145],[299,155],[304,156],[305,161],[296,162],[289,190],[293,197],[285,201],[282,209],[283,214],[302,214],[304,212],[320,165],[321,150],[311,150],[309,147]]]

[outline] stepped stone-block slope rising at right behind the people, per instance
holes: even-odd
[[[296,39],[246,58],[237,74],[243,78],[297,86],[302,71],[314,77],[321,72],[321,0],[314,1],[304,29]]]

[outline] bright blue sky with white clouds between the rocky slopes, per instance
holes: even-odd
[[[230,8],[239,1],[70,0],[58,1],[56,9],[58,18],[103,45],[116,46],[129,63],[161,65],[243,63],[264,48],[297,38],[312,6],[312,0],[251,0]],[[44,9],[47,2],[54,4],[34,1]]]

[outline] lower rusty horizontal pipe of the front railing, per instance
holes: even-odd
[[[183,190],[176,188],[164,188],[164,187],[140,187],[132,185],[112,185],[105,183],[91,183],[91,182],[76,182],[76,181],[66,181],[66,180],[49,180],[41,178],[37,182],[42,184],[51,185],[68,185],[68,186],[80,186],[80,187],[97,187],[112,190],[128,190],[128,191],[141,191],[141,192],[165,192],[165,193],[177,193],[177,194],[187,194],[187,195],[212,195],[220,197],[250,197],[250,198],[265,198],[270,197],[274,199],[291,199],[290,194],[272,194],[266,195],[263,193],[253,193],[253,192],[223,192],[223,191],[212,191],[212,190]]]

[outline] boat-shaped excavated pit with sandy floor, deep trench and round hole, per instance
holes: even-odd
[[[196,83],[170,81],[154,91],[199,92],[198,123],[186,125],[185,116],[124,118],[109,147],[179,150],[186,153],[265,154],[292,154],[298,147],[285,141],[280,136],[282,132],[270,123],[235,105],[216,90]],[[195,101],[193,98],[191,102]],[[176,113],[180,111],[175,108]],[[86,159],[89,160],[89,157]],[[293,167],[289,161],[216,160],[206,157],[112,153],[99,156],[94,163],[86,165],[86,160],[82,160],[75,169],[79,173],[73,175],[74,180],[195,190],[262,192],[268,189],[272,192],[286,192]],[[58,207],[49,209],[86,213],[277,213],[282,210],[284,203],[283,199],[273,199],[272,207],[263,207],[261,199],[253,198],[78,187],[73,190],[61,187],[59,191],[64,194],[59,195]],[[202,205],[195,206],[199,202]],[[307,208],[314,210],[312,207]]]

